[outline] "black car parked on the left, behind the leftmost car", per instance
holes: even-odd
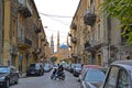
[[[44,75],[44,68],[41,63],[30,64],[26,70],[26,76],[42,76]]]

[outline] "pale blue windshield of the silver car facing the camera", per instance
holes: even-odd
[[[105,74],[99,69],[88,69],[85,80],[86,81],[103,81]]]

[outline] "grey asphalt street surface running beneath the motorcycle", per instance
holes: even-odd
[[[21,78],[19,85],[12,85],[10,88],[80,88],[77,78],[68,72],[65,72],[65,80],[53,80],[51,74],[52,72],[40,77]]]

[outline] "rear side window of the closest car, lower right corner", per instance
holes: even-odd
[[[130,88],[130,79],[129,79],[129,74],[124,70],[121,69],[119,73],[119,81],[118,81],[118,87],[117,88]]]

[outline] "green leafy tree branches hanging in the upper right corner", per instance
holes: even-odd
[[[120,29],[124,29],[122,35],[132,45],[132,0],[103,0],[101,10],[121,21]]]

